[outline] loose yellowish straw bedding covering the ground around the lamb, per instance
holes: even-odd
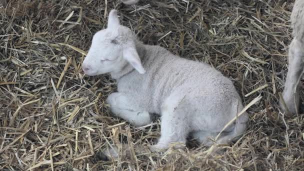
[[[10,0],[0,7],[0,170],[303,168],[303,117],[283,116],[277,106],[293,1]],[[245,105],[262,95],[236,143],[213,155],[193,140],[185,151],[150,153],[159,120],[135,128],[111,116],[104,99],[115,81],[84,75],[81,62],[112,8],[145,43],[220,70]],[[103,160],[101,149],[119,143],[132,155]]]

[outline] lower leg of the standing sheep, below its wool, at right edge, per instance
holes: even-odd
[[[289,47],[289,64],[285,87],[283,91],[283,99],[287,109],[291,113],[296,113],[299,106],[299,80],[304,68],[304,43],[293,38]],[[280,103],[281,109],[286,111],[286,108]]]

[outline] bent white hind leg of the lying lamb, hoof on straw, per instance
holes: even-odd
[[[151,146],[152,151],[167,149],[171,145],[183,147],[189,133],[187,114],[182,109],[182,97],[168,97],[161,107],[161,130],[157,144]]]

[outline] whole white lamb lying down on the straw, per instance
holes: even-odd
[[[110,73],[118,92],[106,102],[116,116],[135,126],[161,115],[160,138],[150,149],[184,147],[187,136],[211,145],[209,137],[235,117],[243,105],[233,83],[210,65],[173,55],[163,47],[143,44],[120,25],[112,9],[107,28],[96,32],[83,60],[87,75]],[[228,143],[247,128],[248,115],[237,115],[217,138]]]

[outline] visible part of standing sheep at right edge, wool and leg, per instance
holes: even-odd
[[[299,81],[304,70],[304,0],[296,0],[291,13],[293,40],[289,45],[288,72],[283,91],[284,104],[280,102],[283,111],[297,113],[299,108]]]

